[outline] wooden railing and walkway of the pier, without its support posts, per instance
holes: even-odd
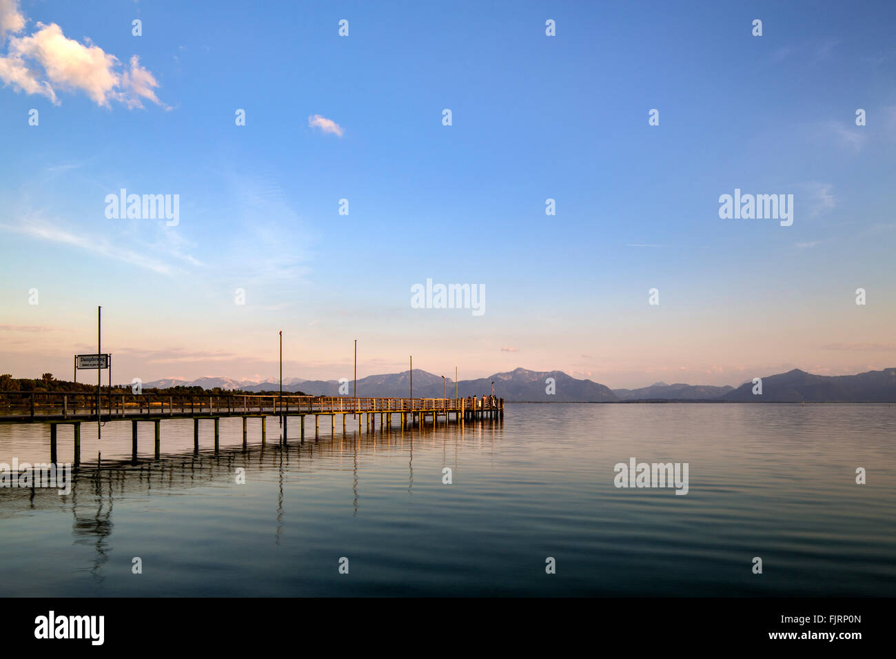
[[[321,414],[340,412],[457,412],[497,410],[500,398],[371,398],[349,395],[295,394],[133,394],[113,390],[98,396],[87,392],[0,392],[0,421],[4,417],[27,421],[151,416],[237,416],[245,414]]]

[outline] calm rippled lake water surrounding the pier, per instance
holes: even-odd
[[[508,404],[463,432],[309,420],[304,445],[293,420],[287,447],[259,423],[244,451],[221,420],[215,455],[205,421],[194,455],[162,421],[158,461],[141,424],[136,465],[130,423],[84,424],[71,494],[0,490],[0,595],[896,594],[896,406]],[[48,437],[0,425],[0,462]],[[687,463],[687,494],[616,488],[630,458]]]

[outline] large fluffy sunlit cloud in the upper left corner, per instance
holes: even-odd
[[[22,31],[24,16],[15,0],[0,0],[0,39],[4,33]],[[68,39],[56,23],[38,23],[37,31],[10,37],[0,54],[0,81],[16,91],[46,96],[58,105],[57,90],[83,91],[90,100],[108,108],[110,101],[128,108],[142,108],[149,100],[168,109],[156,96],[159,82],[132,56],[130,66],[107,53],[90,39],[85,44]]]

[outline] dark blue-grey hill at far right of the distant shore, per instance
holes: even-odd
[[[732,403],[896,403],[896,369],[854,376],[816,376],[805,370],[762,377],[762,395],[746,382],[720,400]]]

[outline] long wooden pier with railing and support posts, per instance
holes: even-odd
[[[74,465],[81,462],[82,423],[106,424],[131,421],[132,455],[137,456],[137,424],[151,422],[155,429],[155,455],[161,452],[161,421],[192,419],[194,450],[199,450],[200,421],[212,421],[214,447],[219,447],[220,419],[243,420],[243,445],[248,439],[247,420],[261,420],[261,440],[265,443],[267,419],[282,419],[278,441],[286,441],[290,418],[298,417],[299,440],[305,442],[305,418],[314,417],[314,439],[320,436],[321,417],[330,417],[331,435],[335,435],[336,417],[342,417],[345,433],[348,417],[358,421],[358,434],[381,429],[435,428],[439,417],[461,427],[467,422],[504,419],[504,399],[496,398],[354,398],[349,396],[306,395],[184,395],[125,394],[113,392],[98,396],[75,392],[2,392],[0,423],[47,423],[49,425],[50,462],[56,463],[58,427],[73,426]],[[377,420],[377,415],[379,419]],[[378,421],[378,423],[377,423]]]

